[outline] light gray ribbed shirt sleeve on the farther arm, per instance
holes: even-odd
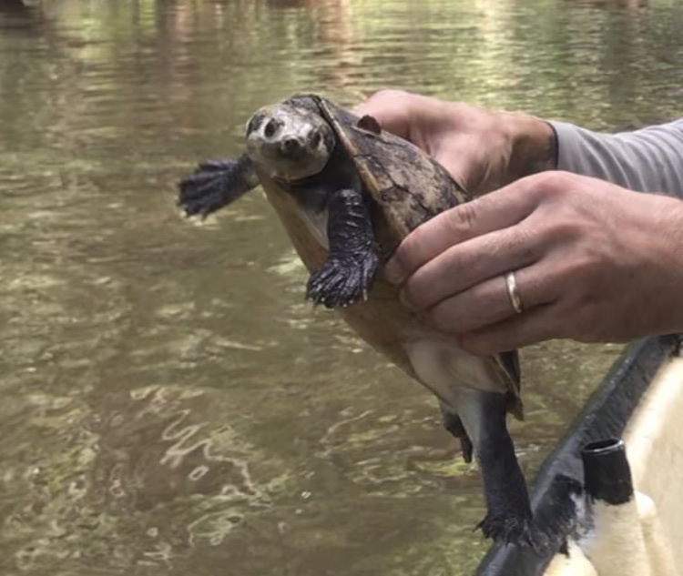
[[[636,132],[603,134],[551,122],[557,168],[642,192],[683,197],[683,119]]]

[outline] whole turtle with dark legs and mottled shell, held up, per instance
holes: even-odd
[[[409,141],[316,94],[258,109],[239,157],[208,160],[179,183],[186,216],[207,217],[258,185],[310,271],[306,296],[353,330],[439,401],[443,425],[478,463],[486,514],[476,526],[496,542],[537,547],[525,478],[507,429],[524,418],[516,350],[479,357],[405,307],[382,267],[404,237],[472,199]]]

